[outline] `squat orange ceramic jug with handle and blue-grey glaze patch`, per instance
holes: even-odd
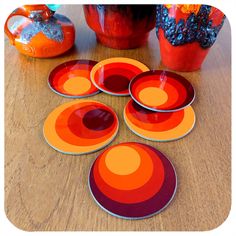
[[[18,17],[9,29],[8,22]],[[13,11],[4,30],[10,43],[22,54],[48,58],[69,50],[75,41],[75,28],[67,17],[54,14],[46,5],[24,5]]]

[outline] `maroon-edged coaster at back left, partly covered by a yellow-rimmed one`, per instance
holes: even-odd
[[[96,61],[73,60],[60,64],[49,75],[48,85],[53,92],[68,98],[83,98],[100,91],[91,83],[90,71]]]

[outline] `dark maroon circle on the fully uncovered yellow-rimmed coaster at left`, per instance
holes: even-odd
[[[83,124],[91,130],[100,131],[109,128],[114,122],[114,115],[105,109],[88,111],[83,117]]]

